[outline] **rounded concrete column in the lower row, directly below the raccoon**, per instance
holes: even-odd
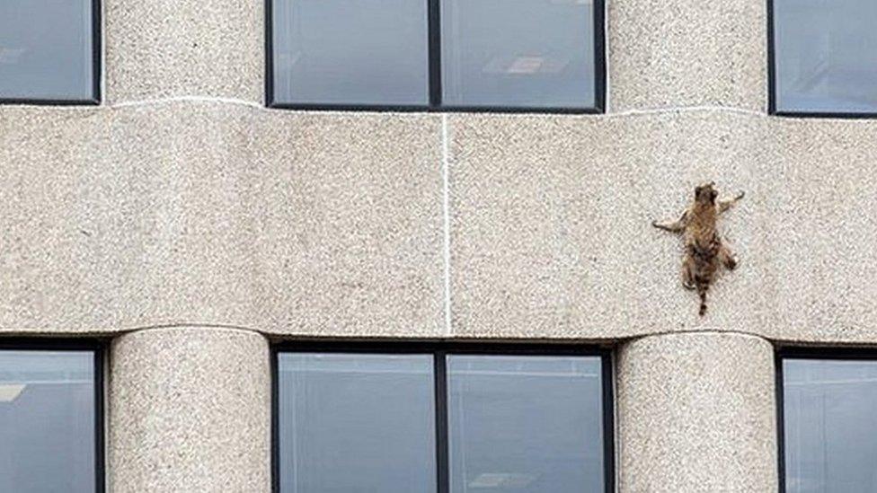
[[[622,492],[776,491],[774,349],[753,336],[649,336],[621,350]]]

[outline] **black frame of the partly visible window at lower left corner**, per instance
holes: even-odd
[[[106,436],[104,405],[104,357],[107,343],[91,338],[0,337],[0,351],[93,351],[94,354],[94,491],[106,491]]]

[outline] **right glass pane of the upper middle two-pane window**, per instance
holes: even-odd
[[[593,0],[441,0],[443,102],[595,106]]]

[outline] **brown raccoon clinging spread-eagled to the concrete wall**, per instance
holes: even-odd
[[[696,289],[700,295],[700,314],[706,313],[706,292],[721,266],[729,270],[737,268],[734,254],[722,243],[716,229],[716,220],[740,198],[716,200],[719,192],[714,183],[706,183],[695,188],[695,200],[682,213],[677,221],[654,222],[651,225],[673,233],[683,233],[685,256],[682,260],[682,286]]]

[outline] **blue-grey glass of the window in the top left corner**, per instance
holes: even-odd
[[[92,100],[92,0],[0,0],[0,100]]]

